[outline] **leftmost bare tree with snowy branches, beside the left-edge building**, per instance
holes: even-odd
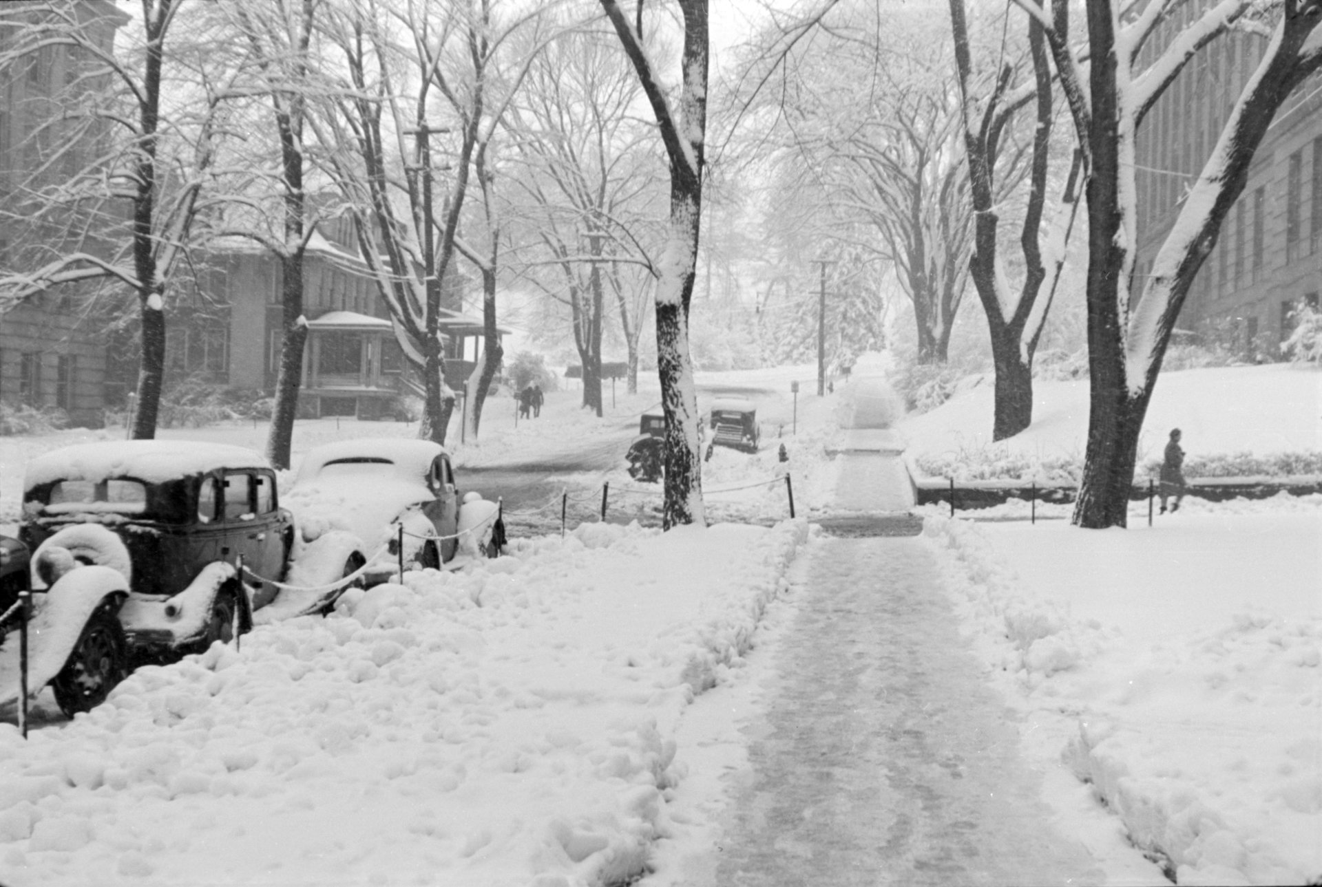
[[[36,149],[21,193],[0,208],[9,223],[59,246],[48,260],[0,279],[0,301],[98,279],[130,287],[141,327],[131,430],[139,439],[156,435],[169,280],[201,209],[217,110],[230,94],[209,67],[209,36],[182,21],[182,0],[143,0],[140,17],[123,21],[112,21],[120,13],[111,7],[91,4],[0,7],[0,26],[16,33],[0,67],[41,63],[41,53],[54,49],[78,61],[70,102],[29,135]],[[116,25],[127,45],[118,53],[97,38],[98,29]],[[90,160],[69,169],[75,145],[89,144]]]

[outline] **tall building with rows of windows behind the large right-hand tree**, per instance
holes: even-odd
[[[1151,62],[1210,5],[1186,0],[1142,49]],[[1138,256],[1146,275],[1183,194],[1211,155],[1233,102],[1263,58],[1266,37],[1212,41],[1179,74],[1137,135]],[[1244,193],[1190,288],[1179,325],[1229,338],[1248,358],[1273,358],[1290,312],[1322,292],[1322,78],[1302,83],[1277,112]]]

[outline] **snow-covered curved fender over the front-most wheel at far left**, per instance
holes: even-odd
[[[28,693],[36,693],[59,674],[98,607],[107,604],[118,609],[127,598],[128,583],[123,574],[102,566],[70,570],[49,591],[33,595],[28,624]],[[19,695],[19,653],[15,632],[0,646],[0,703]]]

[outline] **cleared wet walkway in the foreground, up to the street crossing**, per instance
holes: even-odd
[[[917,539],[813,546],[796,623],[713,884],[1075,884],[1105,875],[1058,834],[1017,715],[956,631]]]

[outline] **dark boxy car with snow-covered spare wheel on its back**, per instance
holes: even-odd
[[[33,459],[19,534],[36,592],[29,669],[41,668],[30,686],[75,664],[75,679],[54,682],[70,715],[104,699],[134,662],[247,631],[299,554],[264,457],[182,440],[99,442]],[[362,563],[345,546],[323,579]],[[8,691],[0,686],[0,699]]]

